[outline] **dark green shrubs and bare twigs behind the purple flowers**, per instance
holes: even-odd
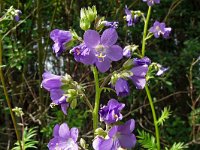
[[[79,27],[80,8],[96,5],[100,16],[105,16],[108,21],[119,21],[117,31],[121,46],[128,43],[139,45],[143,23],[128,28],[123,19],[124,7],[128,5],[132,10],[146,13],[146,4],[141,0],[0,0],[0,16],[11,5],[20,9],[22,15],[20,22],[8,22],[1,26],[7,31],[3,40],[3,72],[12,107],[20,107],[24,112],[23,116],[16,116],[20,123],[19,130],[36,127],[33,138],[40,141],[36,142],[37,147],[47,149],[53,126],[66,121],[69,126],[80,128],[82,135],[87,133],[83,137],[90,141],[88,131],[92,130],[92,120],[86,106],[80,104],[63,116],[59,108],[50,108],[49,94],[40,88],[44,70],[59,75],[68,73],[78,82],[92,79],[90,68],[75,62],[69,51],[62,57],[55,57],[49,33],[55,28],[73,28],[78,34],[83,34]],[[165,21],[172,28],[172,34],[168,40],[153,39],[147,46],[147,56],[152,61],[170,68],[164,76],[148,83],[156,111],[161,112],[165,106],[170,106],[172,111],[160,129],[161,143],[172,145],[175,141],[185,142],[191,150],[200,149],[199,8],[199,0],[161,0],[161,4],[154,7],[150,24],[155,19]],[[118,67],[118,64],[114,66]],[[101,76],[102,80],[104,76]],[[88,85],[88,91],[91,91],[88,96],[92,101],[93,83]],[[151,132],[154,127],[145,92],[132,89],[131,95],[123,98],[127,107],[123,114],[127,119],[136,120],[137,129]],[[13,147],[16,137],[2,88],[0,95],[0,149],[4,150]],[[109,96],[104,94],[101,103],[107,103],[111,97],[115,97],[115,93]],[[136,149],[139,147],[137,145]]]

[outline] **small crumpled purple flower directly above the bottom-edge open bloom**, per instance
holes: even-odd
[[[122,120],[121,110],[125,107],[125,104],[119,103],[115,99],[110,99],[107,106],[103,106],[99,110],[100,120],[107,124],[115,123],[118,120]]]

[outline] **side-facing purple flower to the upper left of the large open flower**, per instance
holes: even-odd
[[[65,44],[72,40],[72,34],[69,31],[54,29],[50,38],[55,42],[52,48],[58,57],[65,50]]]

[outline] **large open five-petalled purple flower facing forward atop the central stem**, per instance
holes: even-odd
[[[85,46],[89,49],[89,59],[85,64],[95,64],[100,72],[110,68],[111,61],[118,61],[123,57],[120,46],[114,45],[118,35],[115,29],[106,29],[102,36],[94,30],[87,30],[84,34]]]

